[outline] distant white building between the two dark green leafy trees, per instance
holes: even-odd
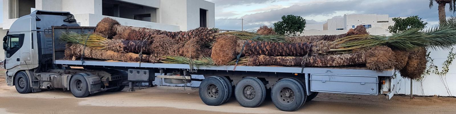
[[[343,18],[328,19],[325,24],[308,24],[301,35],[338,35],[363,25],[373,35],[391,35],[388,26],[394,25],[394,17],[378,14],[344,15]]]

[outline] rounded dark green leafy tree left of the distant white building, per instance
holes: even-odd
[[[298,32],[302,33],[305,27],[306,19],[294,15],[282,16],[282,21],[274,23],[274,31],[286,36],[296,36]]]

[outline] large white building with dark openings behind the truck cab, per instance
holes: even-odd
[[[125,26],[187,31],[215,27],[214,8],[214,3],[205,0],[3,0],[0,36],[33,10],[69,11],[80,26],[96,26],[104,17],[112,17]]]

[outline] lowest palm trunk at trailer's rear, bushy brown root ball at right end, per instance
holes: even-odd
[[[389,47],[374,47],[368,51],[353,52],[340,55],[320,55],[311,57],[272,57],[252,56],[247,60],[247,66],[308,66],[308,67],[337,67],[357,64],[366,65],[371,70],[387,70],[394,68],[393,61],[385,61],[393,58]]]

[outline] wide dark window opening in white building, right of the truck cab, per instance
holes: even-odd
[[[103,15],[157,22],[157,9],[119,0],[103,0]]]

